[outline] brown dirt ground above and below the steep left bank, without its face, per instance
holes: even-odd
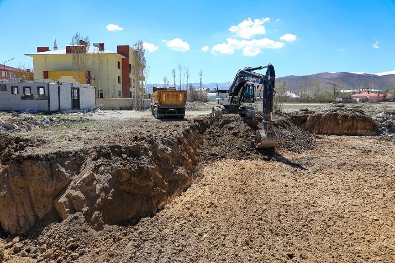
[[[235,115],[214,119],[211,106],[187,111],[185,120],[157,120],[149,111],[34,115],[44,128],[0,134],[0,172],[12,154],[75,158],[142,142],[166,152],[172,141],[183,143],[178,138],[192,145],[182,146],[192,157],[180,161],[191,167],[188,186],[155,213],[98,227],[86,210],[74,207],[62,220],[51,209],[24,233],[0,229],[0,261],[395,261],[395,136],[316,135],[281,116],[279,147],[255,150],[254,124]],[[371,115],[395,110],[357,107]],[[0,113],[0,121],[8,118]]]

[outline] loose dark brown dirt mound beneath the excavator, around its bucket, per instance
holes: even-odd
[[[220,118],[207,115],[204,118],[195,118],[194,125],[203,134],[203,161],[223,158],[267,160],[276,156],[273,149],[256,149],[254,146],[256,130],[262,126],[260,113],[244,118],[234,114],[224,114]],[[308,133],[284,116],[276,117],[275,130],[279,137],[277,148],[301,152],[314,145]]]

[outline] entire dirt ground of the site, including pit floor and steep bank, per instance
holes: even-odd
[[[259,114],[2,114],[0,261],[394,262],[395,136],[331,107],[274,150]]]

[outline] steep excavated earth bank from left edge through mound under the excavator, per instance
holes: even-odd
[[[152,216],[190,186],[199,163],[274,158],[293,165],[273,149],[254,148],[259,115],[208,115],[162,126],[152,132],[151,122],[141,123],[150,136],[130,133],[121,143],[41,154],[45,140],[0,135],[2,229],[24,233],[54,210],[61,220],[80,212],[96,230]],[[302,152],[314,146],[314,136],[289,116],[277,116],[276,131],[279,148]]]

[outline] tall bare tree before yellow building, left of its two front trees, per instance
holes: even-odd
[[[90,41],[88,36],[82,38],[77,32],[71,38],[71,68],[78,83],[81,83],[81,71],[84,73],[84,83],[87,83],[87,53],[89,52]]]

